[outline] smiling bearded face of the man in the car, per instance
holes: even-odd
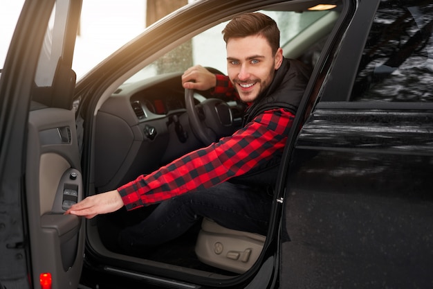
[[[260,35],[230,38],[226,47],[228,77],[241,100],[250,103],[272,82],[282,64],[282,49],[274,55]]]

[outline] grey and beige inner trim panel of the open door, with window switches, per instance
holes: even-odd
[[[80,154],[71,110],[33,110],[28,121],[26,196],[35,282],[53,275],[53,288],[76,288],[82,270],[83,226],[64,215],[82,198]]]

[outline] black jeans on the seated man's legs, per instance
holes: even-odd
[[[271,204],[265,190],[225,182],[161,202],[145,220],[120,231],[119,245],[128,251],[160,245],[203,217],[229,229],[266,235]]]

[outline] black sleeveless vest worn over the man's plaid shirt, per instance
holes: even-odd
[[[275,71],[274,79],[269,87],[246,110],[242,126],[267,110],[284,108],[295,114],[304,95],[309,76],[310,72],[302,62],[284,58],[281,67]],[[229,182],[247,186],[271,186],[273,188],[277,181],[281,159],[282,152],[279,152],[273,155],[272,159],[266,161],[266,164],[253,168],[239,177],[233,177]]]

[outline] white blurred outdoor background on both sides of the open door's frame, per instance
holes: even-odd
[[[73,62],[77,80],[147,26],[193,1],[84,0]],[[0,69],[23,4],[24,0],[0,2]]]

